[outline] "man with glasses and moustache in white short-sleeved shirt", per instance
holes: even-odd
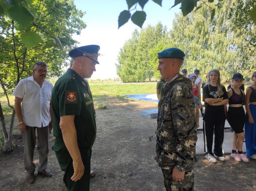
[[[21,79],[12,95],[15,95],[15,112],[18,119],[18,128],[23,135],[24,165],[27,171],[27,182],[35,181],[33,162],[34,148],[36,145],[39,152],[38,174],[51,177],[52,173],[46,169],[49,152],[48,136],[52,130],[51,97],[53,85],[45,78],[47,65],[44,62],[34,64],[34,75]],[[22,106],[21,106],[22,103]]]

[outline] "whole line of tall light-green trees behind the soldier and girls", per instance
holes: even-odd
[[[247,4],[241,0],[218,2],[213,18],[209,6],[199,5],[200,9],[185,17],[181,12],[176,14],[170,31],[161,23],[147,26],[141,32],[134,30],[119,52],[117,74],[123,82],[159,79],[157,53],[178,47],[186,54],[182,68],[187,68],[188,73],[199,69],[204,77],[216,68],[223,81],[235,72],[248,78],[256,68],[255,24],[248,17],[252,5],[255,0]]]

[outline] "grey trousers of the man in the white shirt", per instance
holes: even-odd
[[[34,148],[36,146],[36,129],[37,129],[37,150],[39,152],[38,172],[45,170],[48,163],[49,153],[49,125],[46,127],[30,127],[27,126],[23,135],[24,144],[24,165],[27,173],[34,173],[36,166],[33,162]]]

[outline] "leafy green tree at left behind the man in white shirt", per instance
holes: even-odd
[[[72,35],[86,27],[84,14],[72,0],[0,1],[0,84],[11,108],[8,94],[32,75],[35,62],[46,62],[50,76],[62,73],[67,52],[77,43]]]

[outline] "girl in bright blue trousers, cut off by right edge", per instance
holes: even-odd
[[[251,79],[254,83],[246,89],[245,95],[245,144],[246,156],[256,159],[256,71]]]

